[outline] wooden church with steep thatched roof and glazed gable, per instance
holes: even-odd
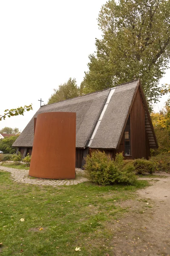
[[[42,106],[13,143],[23,157],[32,153],[34,118],[44,112],[76,112],[78,168],[84,166],[84,157],[97,149],[111,158],[123,152],[125,159],[148,159],[150,148],[158,148],[140,80]]]

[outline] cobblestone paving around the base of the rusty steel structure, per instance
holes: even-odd
[[[82,177],[83,171],[76,168],[77,177],[75,180],[49,180],[41,178],[32,178],[29,176],[29,170],[19,170],[9,168],[6,166],[0,166],[0,169],[11,173],[12,180],[21,183],[35,184],[35,185],[47,185],[47,186],[61,186],[61,185],[77,185],[87,181],[86,178]]]

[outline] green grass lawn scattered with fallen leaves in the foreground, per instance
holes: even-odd
[[[128,211],[118,202],[135,198],[136,189],[148,185],[138,180],[135,186],[85,182],[54,188],[16,183],[9,177],[0,171],[2,256],[114,255],[110,225]]]

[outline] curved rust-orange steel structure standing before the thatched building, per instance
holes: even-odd
[[[76,113],[49,112],[37,116],[29,175],[75,179]]]

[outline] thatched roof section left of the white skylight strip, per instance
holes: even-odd
[[[42,106],[13,143],[14,147],[32,147],[34,118],[43,112],[76,112],[76,147],[84,148],[103,109],[110,89],[90,93],[63,102]]]

